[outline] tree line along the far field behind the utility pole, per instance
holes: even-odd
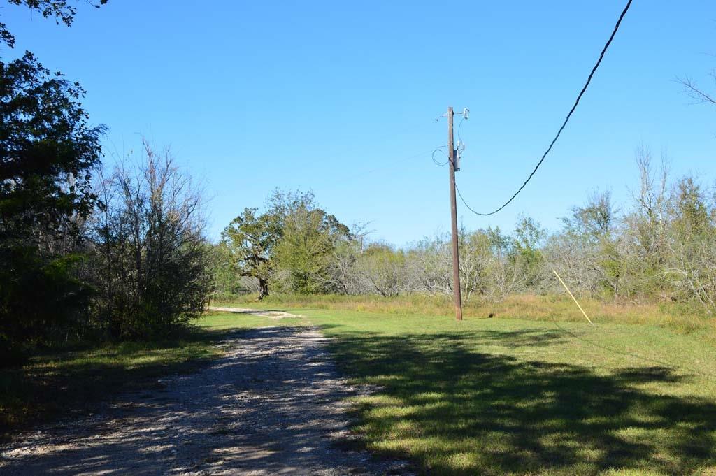
[[[511,233],[459,230],[465,300],[510,293],[562,292],[552,270],[579,296],[621,302],[716,305],[716,189],[697,178],[671,180],[637,152],[639,188],[620,209],[609,192],[592,193],[549,233],[522,217]],[[311,193],[276,191],[263,213],[247,208],[224,230],[216,256],[218,296],[270,291],[398,296],[453,292],[448,235],[405,248],[369,243]]]

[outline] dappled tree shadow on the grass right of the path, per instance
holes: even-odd
[[[660,366],[597,374],[480,352],[563,339],[538,330],[341,331],[332,351],[348,376],[378,386],[356,408],[368,447],[407,455],[430,474],[716,470],[715,400],[668,394],[691,377]]]

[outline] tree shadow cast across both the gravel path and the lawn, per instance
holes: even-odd
[[[333,334],[338,327],[324,329]],[[334,405],[355,395],[338,384],[316,386],[335,375],[324,349],[252,347],[301,331],[305,327],[230,333],[246,346],[241,356],[213,361],[166,390],[118,396],[102,418],[82,419],[86,437],[78,447],[62,450],[74,433],[60,422],[57,432],[24,443],[52,443],[56,452],[18,457],[4,467],[0,461],[0,473],[165,474],[171,468],[274,474],[328,465],[330,474],[368,466],[383,474],[364,454],[324,445],[342,427]],[[684,475],[716,465],[715,402],[669,394],[697,377],[651,364],[597,373],[508,355],[567,339],[541,329],[407,336],[340,331],[329,344],[332,355],[345,375],[376,390],[354,408],[365,436],[353,447],[410,457],[431,475],[596,475],[611,468]],[[492,354],[480,351],[487,346]],[[274,377],[266,369],[275,369]],[[310,414],[324,418],[307,419]]]

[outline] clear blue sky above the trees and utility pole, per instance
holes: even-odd
[[[458,186],[494,208],[548,145],[624,3],[78,1],[71,29],[14,6],[0,16],[17,37],[4,57],[30,49],[87,89],[107,152],[145,135],[205,180],[213,238],[279,187],[314,190],[344,223],[403,245],[449,230],[435,117],[470,108]],[[712,184],[716,107],[674,78],[716,89],[715,20],[713,1],[634,1],[536,178],[489,219],[460,207],[465,225],[512,230],[523,213],[555,229],[595,188],[629,200],[640,144]]]

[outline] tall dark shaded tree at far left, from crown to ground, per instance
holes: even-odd
[[[30,53],[0,62],[0,347],[6,349],[57,335],[57,326],[87,302],[86,286],[72,275],[79,262],[72,252],[81,251],[82,226],[96,202],[90,173],[100,162],[105,128],[89,125],[83,94]]]

